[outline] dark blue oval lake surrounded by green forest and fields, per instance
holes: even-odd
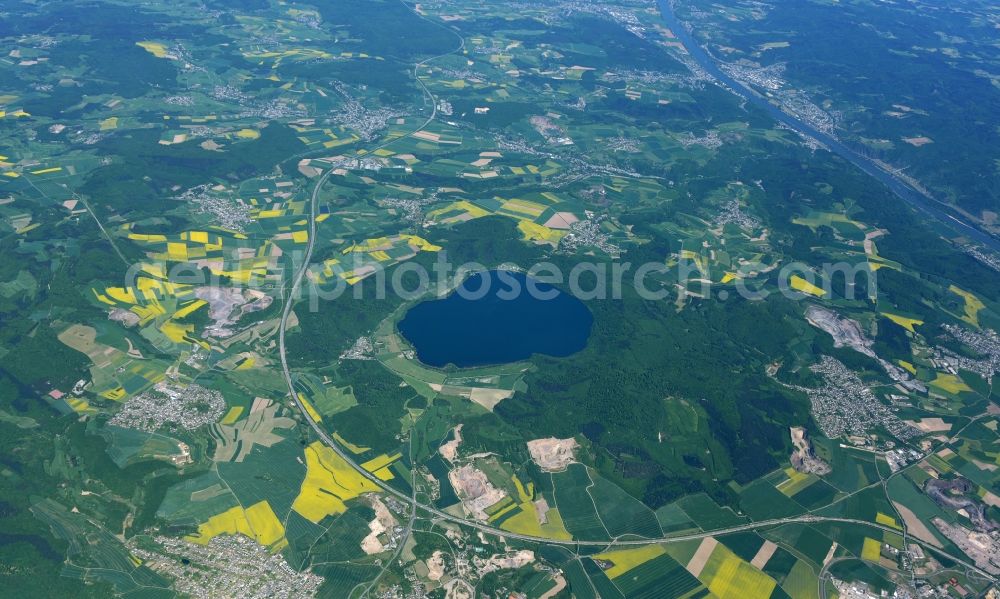
[[[587,345],[593,321],[568,293],[522,273],[489,271],[417,304],[398,327],[424,364],[464,368],[574,354]]]

